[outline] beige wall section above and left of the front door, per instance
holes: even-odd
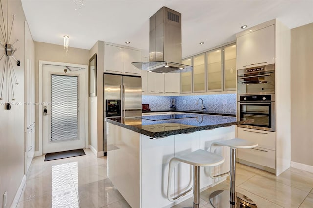
[[[60,38],[60,42],[63,42]],[[70,44],[70,42],[69,42]],[[39,73],[39,61],[51,61],[51,62],[64,62],[75,63],[82,65],[89,65],[89,50],[69,47],[66,53],[62,45],[55,45],[45,42],[35,42],[35,102],[38,103],[39,90],[38,90],[38,73]],[[40,112],[38,112],[38,106],[36,106],[36,124],[38,124],[38,118]],[[39,135],[38,128],[36,128],[35,137],[35,151],[39,151]]]

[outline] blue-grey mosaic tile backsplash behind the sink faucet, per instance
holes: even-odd
[[[204,106],[210,112],[236,114],[236,94],[217,95],[186,95],[186,96],[142,96],[142,104],[149,104],[151,110],[169,110],[171,99],[175,99],[177,110],[201,110],[203,99]]]

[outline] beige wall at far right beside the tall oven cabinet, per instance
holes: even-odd
[[[291,161],[313,166],[313,23],[291,30]]]

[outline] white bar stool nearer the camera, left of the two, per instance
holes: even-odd
[[[200,187],[199,187],[199,168],[200,167],[212,167],[218,166],[224,163],[225,159],[223,156],[214,154],[212,152],[208,152],[202,149],[198,149],[194,152],[190,152],[185,155],[181,155],[178,157],[174,157],[170,160],[169,165],[169,174],[168,174],[168,185],[167,185],[167,198],[169,201],[174,202],[179,200],[181,197],[185,196],[189,193],[192,189],[194,189],[194,202],[193,208],[199,208],[199,200],[200,200]],[[188,189],[187,191],[179,194],[177,197],[171,197],[171,179],[174,168],[180,162],[187,163],[194,166],[194,185],[193,188]]]

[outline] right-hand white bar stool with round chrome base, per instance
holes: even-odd
[[[217,146],[230,147],[230,191],[217,190],[210,195],[210,203],[214,208],[257,208],[256,204],[247,196],[235,191],[235,173],[236,173],[236,149],[248,149],[257,147],[255,142],[244,139],[230,139],[215,141],[211,145],[212,148]],[[221,174],[224,175],[224,174]],[[211,176],[212,177],[212,176]],[[214,176],[213,176],[214,177]],[[217,177],[214,177],[217,178]]]

